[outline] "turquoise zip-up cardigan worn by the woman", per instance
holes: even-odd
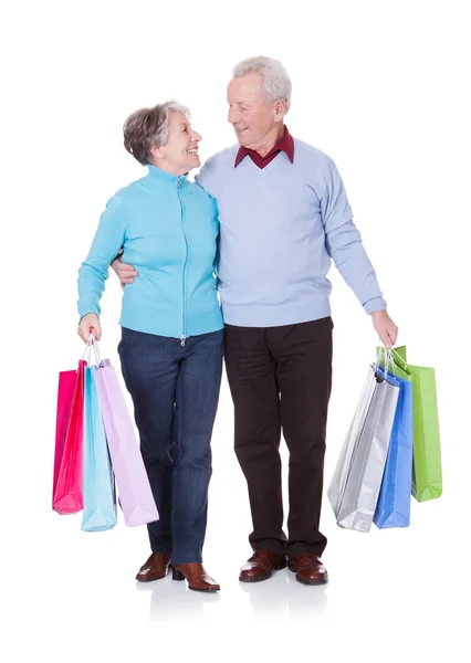
[[[222,329],[217,296],[218,208],[187,178],[148,166],[142,179],[108,201],[78,271],[78,314],[100,315],[108,267],[123,262],[139,276],[125,287],[119,324],[180,338]]]

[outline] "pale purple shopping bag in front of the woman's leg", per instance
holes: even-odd
[[[135,527],[159,519],[133,422],[109,359],[94,371],[119,504],[126,525]]]

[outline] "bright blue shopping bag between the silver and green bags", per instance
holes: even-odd
[[[378,372],[385,376],[383,368]],[[373,522],[379,529],[408,527],[412,485],[414,406],[412,383],[387,372],[399,383],[399,398],[393,424],[381,488]]]

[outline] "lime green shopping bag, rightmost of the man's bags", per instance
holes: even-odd
[[[406,346],[394,348],[393,357],[396,375],[412,383],[412,495],[417,502],[436,499],[442,493],[442,480],[435,369],[407,364]],[[384,366],[384,360],[379,364]]]

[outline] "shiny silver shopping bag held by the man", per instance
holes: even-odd
[[[398,397],[399,388],[371,366],[327,490],[339,527],[371,527]]]

